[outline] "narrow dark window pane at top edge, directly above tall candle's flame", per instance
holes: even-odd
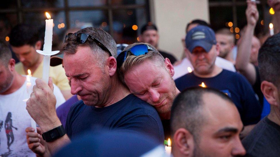
[[[27,8],[32,7],[64,7],[63,0],[22,0],[22,6]]]

